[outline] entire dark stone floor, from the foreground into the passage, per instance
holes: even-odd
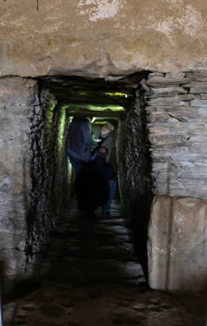
[[[39,289],[3,305],[3,325],[202,326],[206,295],[147,287],[118,206],[102,219],[64,209],[46,252]]]

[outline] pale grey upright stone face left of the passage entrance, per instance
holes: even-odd
[[[25,264],[27,194],[30,189],[29,122],[36,82],[0,79],[0,264],[3,283],[21,277]]]

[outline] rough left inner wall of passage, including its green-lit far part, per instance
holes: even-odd
[[[29,271],[36,261],[35,254],[47,243],[59,220],[67,174],[65,110],[56,108],[57,101],[48,89],[41,89],[39,103],[36,100],[35,115],[30,122],[32,187],[25,247]]]

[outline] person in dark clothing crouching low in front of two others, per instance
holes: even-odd
[[[107,148],[100,146],[92,161],[84,163],[76,179],[78,208],[88,214],[101,206],[102,215],[110,215],[110,204],[116,190],[113,165],[106,162]]]

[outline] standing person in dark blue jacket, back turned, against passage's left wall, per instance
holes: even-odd
[[[91,150],[97,147],[97,142],[91,135],[92,118],[74,117],[67,135],[67,154],[76,175],[80,173],[82,164],[88,162]]]

